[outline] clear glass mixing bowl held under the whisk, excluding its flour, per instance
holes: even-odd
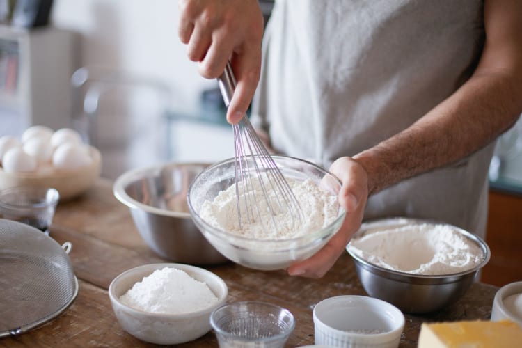
[[[296,180],[311,179],[322,189],[337,195],[341,182],[337,177],[308,161],[286,156],[273,156],[281,173]],[[253,171],[253,159],[246,166]],[[258,164],[261,166],[261,164]],[[214,200],[220,191],[235,183],[235,161],[227,159],[205,168],[193,180],[188,195],[189,209],[196,226],[207,240],[228,259],[253,269],[285,269],[293,262],[305,260],[317,253],[333,237],[345,219],[345,210],[341,207],[337,219],[329,226],[302,237],[292,239],[254,239],[232,232],[214,228],[204,221],[200,209],[205,200]]]

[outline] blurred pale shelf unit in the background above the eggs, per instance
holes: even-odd
[[[71,31],[0,25],[0,136],[70,125],[74,54]]]

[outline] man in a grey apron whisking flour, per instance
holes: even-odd
[[[493,141],[522,112],[521,18],[520,0],[279,0],[261,50],[257,1],[180,1],[179,36],[200,74],[232,62],[228,121],[258,88],[253,122],[274,149],[342,181],[341,230],[290,275],[323,276],[363,218],[484,236]]]

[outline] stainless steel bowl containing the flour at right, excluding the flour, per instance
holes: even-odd
[[[434,221],[406,218],[370,221],[363,223],[353,238],[379,230],[417,223],[434,223]],[[392,271],[367,262],[351,252],[350,244],[346,249],[354,258],[357,276],[370,296],[393,303],[405,313],[429,313],[441,310],[457,301],[468,290],[479,270],[487,264],[490,258],[489,247],[484,240],[461,228],[454,227],[454,229],[477,243],[484,255],[482,262],[473,269],[455,274],[420,276]]]

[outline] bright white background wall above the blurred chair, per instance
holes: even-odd
[[[80,34],[79,64],[127,70],[161,79],[182,104],[214,81],[200,77],[177,38],[174,0],[55,0],[52,24]]]

